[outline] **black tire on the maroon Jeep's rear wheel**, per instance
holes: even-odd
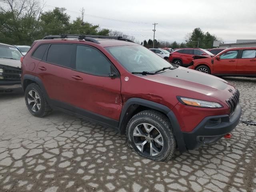
[[[29,104],[28,98],[29,98],[29,100],[31,98],[31,96],[29,94],[29,93],[31,93],[30,91],[39,96],[39,98],[36,101],[36,102],[38,102],[38,104],[36,104],[36,102],[30,102],[30,104]],[[24,94],[25,94],[26,106],[32,115],[34,115],[36,117],[44,117],[52,111],[52,109],[50,108],[48,102],[46,101],[46,98],[45,98],[40,86],[38,86],[38,84],[35,84],[35,83],[29,84],[27,86]],[[40,104],[40,108],[38,108],[39,104]],[[34,105],[36,105],[36,106],[34,107],[34,110],[33,110],[32,106],[34,106]]]

